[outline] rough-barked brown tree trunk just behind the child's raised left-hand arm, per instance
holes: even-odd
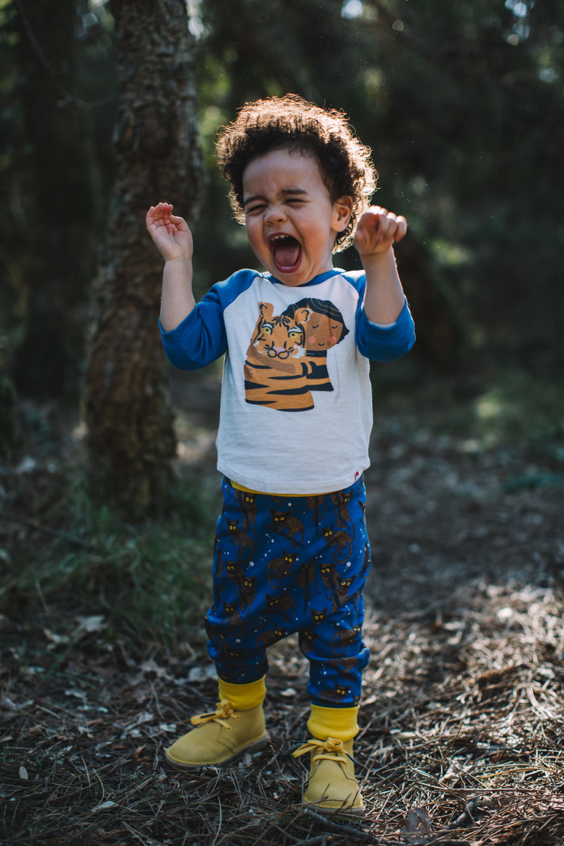
[[[203,165],[193,43],[183,0],[112,0],[120,101],[116,180],[95,283],[85,386],[90,478],[129,519],[162,508],[175,437],[157,319],[162,258],[145,214],[193,219]]]

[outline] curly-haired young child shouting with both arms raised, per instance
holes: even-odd
[[[414,341],[392,244],[406,221],[369,208],[370,149],[341,113],[298,96],[248,103],[223,130],[218,159],[235,217],[265,272],[241,270],[196,305],[192,237],[159,203],[147,228],[165,259],[162,341],[184,370],[226,354],[217,468],[213,605],[216,711],[167,750],[178,767],[220,766],[260,750],[266,647],[298,633],[309,659],[312,737],[305,805],[361,812],[359,732],[363,590],[370,569],[363,471],[372,426],[369,360]],[[364,272],[332,254],[351,243]]]

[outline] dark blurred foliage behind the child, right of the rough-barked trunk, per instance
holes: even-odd
[[[532,369],[562,362],[564,7],[559,0],[202,0],[200,103],[213,123],[293,91],[343,108],[463,312],[470,348]],[[255,266],[211,172],[196,228],[202,288]],[[220,249],[217,249],[218,242]],[[398,250],[398,255],[401,255]],[[359,266],[353,250],[342,266]]]

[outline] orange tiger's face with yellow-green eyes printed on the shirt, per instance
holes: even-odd
[[[269,359],[300,359],[305,355],[304,323],[311,309],[298,309],[293,317],[272,315],[271,303],[259,303],[260,317],[251,343]]]

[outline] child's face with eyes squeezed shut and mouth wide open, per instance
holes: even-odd
[[[350,197],[331,201],[315,157],[282,149],[253,159],[243,194],[249,244],[272,276],[294,286],[331,270],[353,204]]]

